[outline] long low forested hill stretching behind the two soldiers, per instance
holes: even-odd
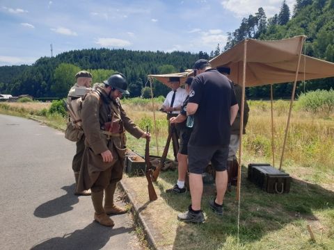
[[[105,80],[113,72],[122,72],[136,90],[132,91],[132,94],[139,96],[148,74],[184,72],[185,69],[190,69],[199,57],[209,58],[207,53],[202,52],[165,53],[125,49],[69,51],[54,58],[40,58],[31,66],[0,67],[0,93],[64,97],[75,81],[74,74],[81,69],[87,69],[95,73],[93,82]],[[61,70],[62,72],[59,72]],[[162,90],[157,88],[157,95],[166,92],[164,86],[160,87]]]

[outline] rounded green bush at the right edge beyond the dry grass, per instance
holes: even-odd
[[[303,93],[297,101],[299,108],[312,113],[325,112],[329,115],[334,110],[334,90],[316,90]]]

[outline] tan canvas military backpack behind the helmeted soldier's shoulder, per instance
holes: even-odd
[[[95,89],[90,89],[86,92],[86,94],[93,91],[95,91]],[[69,120],[65,129],[65,138],[71,142],[78,142],[82,138],[82,135],[84,135],[84,131],[81,126],[81,110],[82,102],[84,101],[86,94],[81,97],[72,98],[71,101],[64,100],[64,105],[69,115]],[[98,96],[100,99],[100,94],[98,94]]]

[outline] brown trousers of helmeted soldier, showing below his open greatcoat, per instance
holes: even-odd
[[[92,190],[92,192],[100,192],[104,190],[109,184],[120,181],[123,176],[123,163],[124,159],[120,158],[120,160],[116,161],[116,163],[109,167],[109,169],[100,172],[99,177],[90,190]]]

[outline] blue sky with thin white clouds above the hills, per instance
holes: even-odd
[[[136,51],[221,49],[227,33],[283,0],[0,0],[0,66],[91,48]],[[295,0],[286,0],[293,10]]]

